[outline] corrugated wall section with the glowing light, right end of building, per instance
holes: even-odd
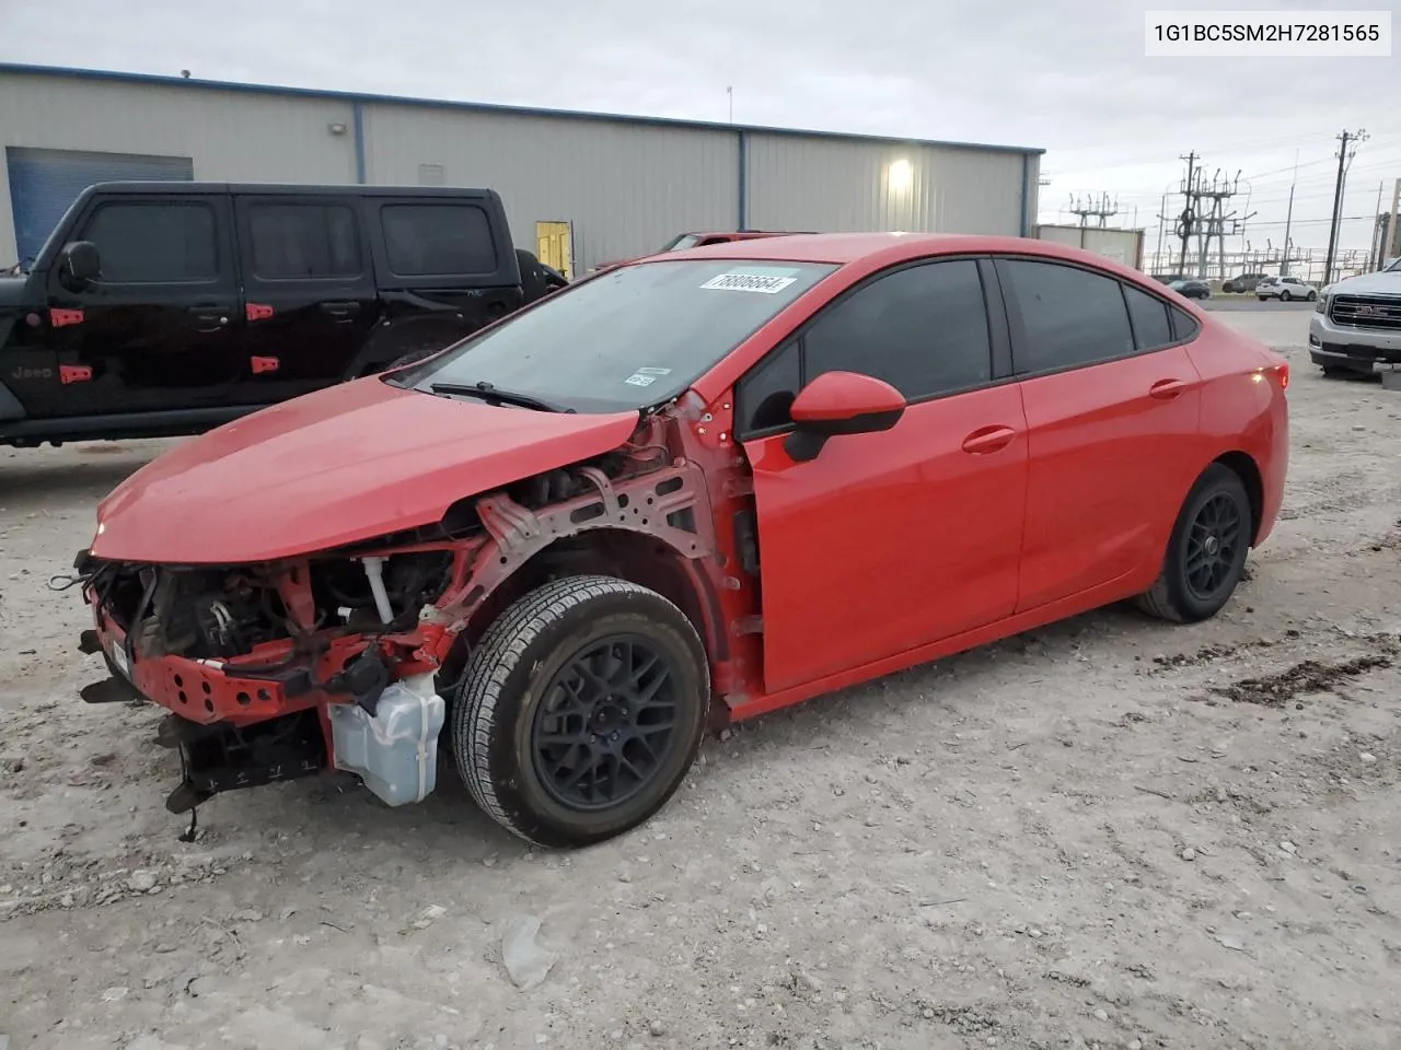
[[[754,228],[1023,232],[1024,154],[762,132],[745,137]],[[1034,190],[1034,171],[1030,183]]]

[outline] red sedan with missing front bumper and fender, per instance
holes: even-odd
[[[85,699],[170,710],[177,812],[322,767],[415,802],[446,728],[502,825],[598,841],[708,725],[1121,599],[1215,615],[1279,511],[1288,381],[1040,241],[622,266],[120,484]]]

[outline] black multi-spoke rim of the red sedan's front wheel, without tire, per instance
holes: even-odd
[[[604,809],[644,790],[677,732],[681,675],[637,634],[590,643],[546,686],[531,727],[541,785],[570,809]]]

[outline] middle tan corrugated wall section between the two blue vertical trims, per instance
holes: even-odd
[[[567,221],[574,267],[654,251],[685,230],[738,223],[738,137],[727,132],[370,104],[366,181],[490,186],[520,248]]]

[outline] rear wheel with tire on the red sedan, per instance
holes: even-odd
[[[1208,532],[1208,536],[1216,538],[1219,556],[1209,553],[1210,546],[1201,543],[1202,533],[1195,528],[1201,526],[1203,519],[1209,519],[1212,511],[1227,511],[1227,521],[1234,515],[1233,542],[1229,525],[1217,525]],[[1245,554],[1250,550],[1251,521],[1250,496],[1240,475],[1222,463],[1208,466],[1187,494],[1173,524],[1173,535],[1167,540],[1167,553],[1163,557],[1163,571],[1159,573],[1153,587],[1135,599],[1135,603],[1150,616],[1173,623],[1195,623],[1215,616],[1230,601],[1240,582]],[[1223,552],[1227,546],[1229,550]],[[1216,563],[1220,577],[1215,585],[1201,585],[1213,582],[1203,581],[1201,570],[1188,573],[1188,559],[1196,554],[1205,554]]]

